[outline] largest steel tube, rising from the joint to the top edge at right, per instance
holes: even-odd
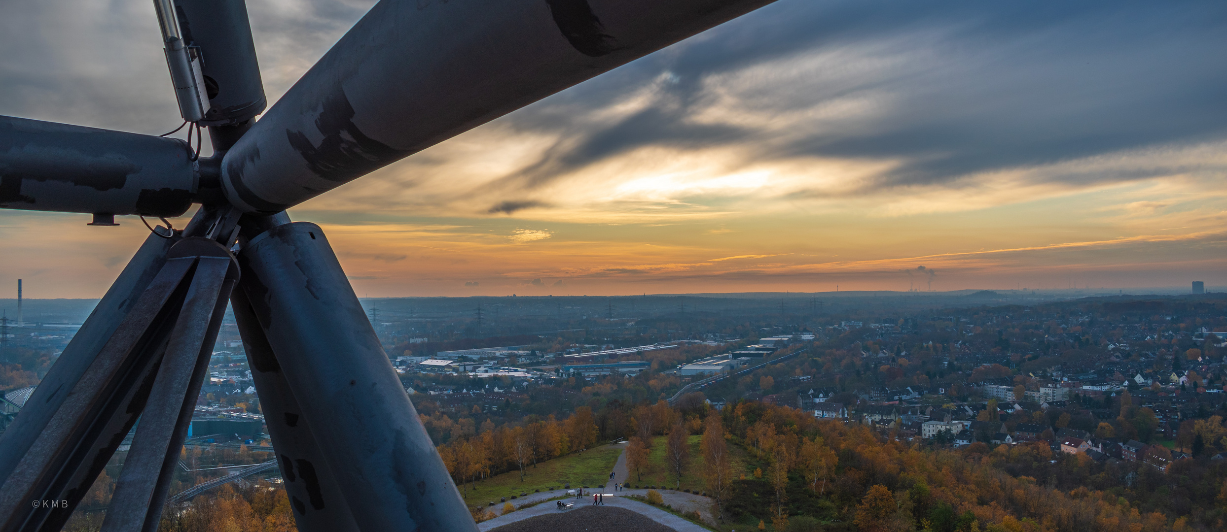
[[[383,0],[222,162],[274,213],[773,0]]]

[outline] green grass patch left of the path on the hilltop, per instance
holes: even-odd
[[[551,485],[561,489],[568,483],[572,488],[580,485],[595,488],[609,479],[610,471],[614,471],[614,465],[621,454],[622,449],[604,445],[589,449],[583,454],[547,460],[537,463],[536,467],[524,468],[524,482],[520,482],[519,469],[496,474],[469,484],[465,503],[469,506],[486,507],[487,503],[497,503],[502,496],[510,501],[512,495],[534,493],[537,489],[548,492],[547,488]],[[460,488],[461,494],[465,493],[464,487],[458,485],[458,488]],[[561,492],[557,493],[561,494]]]

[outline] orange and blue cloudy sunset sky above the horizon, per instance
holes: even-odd
[[[150,4],[0,4],[0,114],[173,129]],[[372,4],[248,0],[270,102]],[[1221,289],[1225,50],[1221,0],[780,0],[290,216],[369,297]],[[147,229],[87,222],[0,211],[0,297],[101,297]]]

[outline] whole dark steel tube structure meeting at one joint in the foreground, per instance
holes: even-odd
[[[188,141],[0,116],[0,207],[166,218],[0,435],[0,531],[153,531],[227,302],[299,531],[476,531],[324,232],[285,213],[772,0],[382,0],[267,107],[243,0],[155,0]],[[183,127],[183,126],[180,126]],[[200,156],[207,129],[211,157]]]

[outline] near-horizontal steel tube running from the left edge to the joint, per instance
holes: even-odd
[[[0,208],[179,216],[191,156],[177,139],[0,116]]]

